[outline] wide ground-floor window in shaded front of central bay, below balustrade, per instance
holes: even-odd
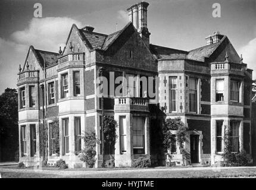
[[[144,119],[133,117],[133,154],[145,154]]]

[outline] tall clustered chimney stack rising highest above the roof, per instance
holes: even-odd
[[[143,41],[149,47],[149,31],[148,31],[148,2],[142,1],[128,8],[129,20],[133,23],[135,29],[142,37]]]

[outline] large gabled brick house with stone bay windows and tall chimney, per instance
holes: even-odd
[[[105,94],[104,114],[113,115],[118,123],[114,150],[111,157],[110,153],[104,157],[108,166],[130,166],[138,157],[162,164],[158,130],[162,119],[177,117],[189,127],[185,148],[190,163],[221,160],[225,125],[232,128],[233,151],[251,154],[252,70],[219,32],[206,37],[205,46],[190,51],[152,45],[148,5],[141,2],[127,9],[130,22],[113,34],[73,24],[59,53],[30,46],[17,83],[20,162],[31,166],[42,160],[40,129],[45,127],[49,163],[63,159],[69,167],[85,166],[77,155],[83,141],[77,139],[83,131],[101,137],[102,106],[95,82],[101,74],[110,88],[117,77],[134,77],[123,95]],[[154,87],[154,97],[142,89],[141,77],[148,83],[153,78],[148,91]],[[55,120],[60,126],[60,154],[51,150]],[[174,162],[182,164],[179,148],[173,155]],[[97,144],[95,167],[101,163],[101,144]]]

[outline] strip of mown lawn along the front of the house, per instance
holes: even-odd
[[[2,178],[256,178],[256,167],[149,169],[17,169],[0,167]]]

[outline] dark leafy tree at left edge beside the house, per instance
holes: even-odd
[[[6,88],[0,95],[0,136],[2,161],[17,159],[18,94],[12,88]]]

